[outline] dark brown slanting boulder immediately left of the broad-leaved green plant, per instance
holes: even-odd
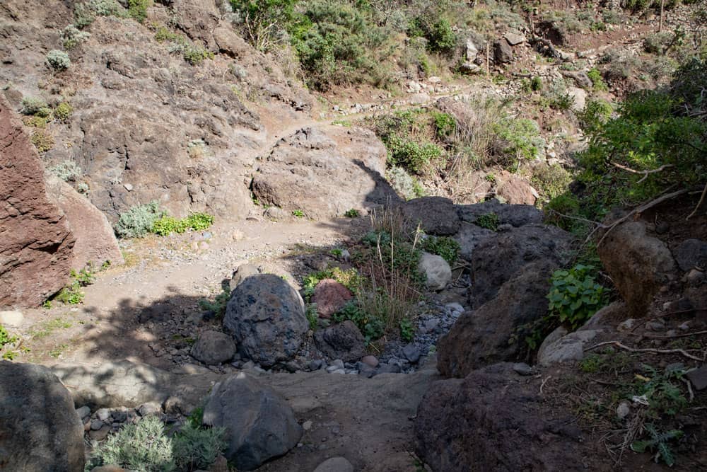
[[[519,328],[547,313],[545,296],[556,265],[538,260],[518,269],[496,297],[474,311],[462,313],[449,333],[438,340],[437,367],[444,376],[462,377],[494,362],[515,359]]]

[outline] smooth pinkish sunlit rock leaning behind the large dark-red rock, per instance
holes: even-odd
[[[115,233],[100,209],[54,176],[47,179],[47,192],[64,211],[71,233],[76,237],[71,268],[81,270],[88,263],[100,267],[106,260],[110,260],[111,265],[122,265],[123,256]]]

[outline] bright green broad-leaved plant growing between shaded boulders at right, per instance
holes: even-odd
[[[595,282],[593,270],[592,266],[578,264],[552,274],[552,288],[547,294],[550,316],[568,323],[573,330],[607,304],[606,289]]]

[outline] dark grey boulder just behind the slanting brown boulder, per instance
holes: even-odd
[[[571,241],[572,236],[566,231],[539,224],[513,228],[482,241],[472,256],[472,306],[481,306],[493,298],[498,288],[528,263],[547,260],[553,269],[565,265]]]

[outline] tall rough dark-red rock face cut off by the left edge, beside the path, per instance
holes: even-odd
[[[69,278],[74,235],[44,168],[0,97],[0,306],[37,306]]]

